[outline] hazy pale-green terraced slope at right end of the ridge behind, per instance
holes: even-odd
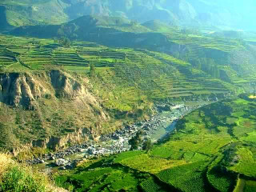
[[[168,41],[183,47],[183,53],[180,50],[179,53],[173,51],[178,58],[190,62],[214,78],[234,83],[255,81],[255,55],[252,51],[255,46],[242,39],[183,34],[178,31],[166,34],[166,37]]]

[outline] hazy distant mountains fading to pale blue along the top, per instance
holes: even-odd
[[[255,6],[253,0],[2,0],[0,30],[60,24],[88,14],[138,22],[158,19],[175,26],[253,30]]]

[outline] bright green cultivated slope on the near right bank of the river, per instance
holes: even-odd
[[[82,162],[56,181],[89,191],[254,191],[255,106],[243,94],[202,107],[152,150]]]

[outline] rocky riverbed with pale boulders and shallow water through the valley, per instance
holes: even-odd
[[[112,134],[105,134],[98,142],[89,141],[81,145],[71,146],[55,154],[44,154],[42,158],[26,161],[28,164],[44,164],[46,167],[58,166],[60,170],[74,168],[77,162],[84,159],[100,158],[104,155],[119,154],[130,150],[129,140],[138,130],[142,130],[142,140],[150,138],[153,142],[166,137],[175,129],[176,121],[207,102],[181,104],[158,104],[154,106],[154,117],[150,120],[126,125]],[[139,147],[141,149],[141,146]]]

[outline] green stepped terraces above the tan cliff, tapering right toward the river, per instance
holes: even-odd
[[[6,68],[6,71],[61,67],[88,75],[93,65],[98,78],[102,78],[105,84],[116,85],[116,95],[123,97],[123,88],[136,95],[133,99],[127,98],[124,103],[138,101],[138,94],[141,94],[138,97],[150,99],[208,98],[210,95],[216,98],[236,90],[230,83],[194,69],[189,62],[158,52],[110,48],[90,42],[74,42],[74,46],[65,48],[50,39],[10,36],[3,39],[6,41],[1,44],[0,51],[5,55],[2,56],[2,63],[8,65],[16,62],[14,67]],[[106,92],[109,91],[102,89],[101,96],[106,98]],[[107,106],[120,105],[112,102]]]

